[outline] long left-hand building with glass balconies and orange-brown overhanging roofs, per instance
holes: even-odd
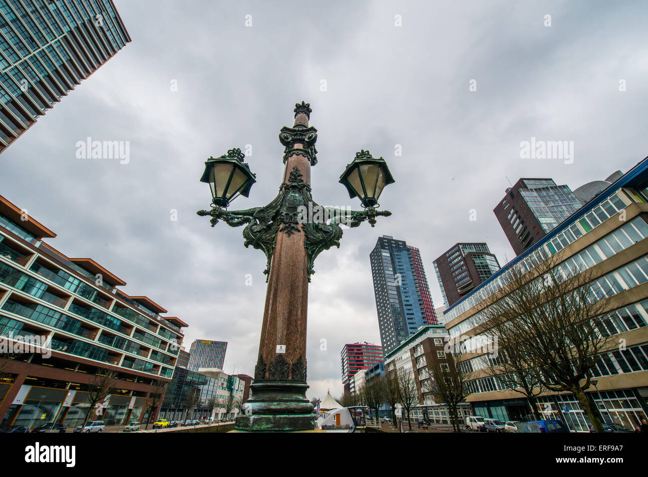
[[[93,259],[65,256],[45,241],[54,237],[0,196],[0,426],[81,424],[102,369],[117,373],[117,391],[100,419],[143,420],[150,393],[171,380],[187,324],[119,290],[126,282]]]

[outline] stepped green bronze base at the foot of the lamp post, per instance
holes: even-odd
[[[255,382],[252,398],[243,405],[235,430],[290,432],[315,428],[313,406],[306,398],[308,384],[290,381]]]

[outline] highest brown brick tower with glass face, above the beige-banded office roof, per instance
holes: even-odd
[[[567,185],[552,179],[518,180],[493,209],[516,254],[522,253],[580,209]]]

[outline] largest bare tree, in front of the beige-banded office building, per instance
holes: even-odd
[[[573,393],[594,430],[603,432],[600,412],[584,391],[613,345],[605,312],[618,284],[597,279],[579,256],[562,262],[561,254],[545,254],[531,272],[513,266],[509,273],[506,294],[485,308],[480,331],[508,349],[515,343],[524,369],[550,391]]]

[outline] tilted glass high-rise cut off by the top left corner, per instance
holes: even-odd
[[[0,0],[0,152],[129,42],[112,0]]]

